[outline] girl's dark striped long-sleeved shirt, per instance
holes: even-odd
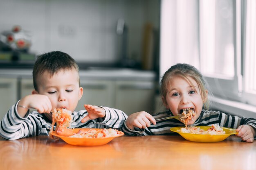
[[[168,116],[173,116],[171,111],[158,113],[153,116],[155,119],[164,118]],[[237,129],[238,126],[242,124],[250,125],[254,129],[256,129],[256,119],[254,118],[245,118],[238,116],[231,116],[229,114],[222,113],[220,111],[205,111],[202,110],[200,117],[195,121],[193,126],[211,126],[212,124],[218,124],[221,127],[228,127],[232,129]],[[128,129],[126,123],[122,127],[121,131],[123,131],[126,135],[132,136],[140,136],[140,135],[177,135],[170,131],[171,128],[177,126],[184,126],[182,122],[176,119],[168,119],[157,122],[155,125],[151,125],[146,129],[135,128],[134,131]]]

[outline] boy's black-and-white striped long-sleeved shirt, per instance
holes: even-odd
[[[0,122],[0,135],[5,139],[20,139],[29,136],[49,135],[52,128],[52,120],[37,111],[28,112],[25,118],[21,118],[17,112],[18,102],[11,107]],[[81,120],[88,114],[86,110],[74,111],[71,128],[114,128],[123,126],[127,115],[118,110],[102,107],[106,111],[104,120],[95,119],[82,123]],[[55,129],[55,126],[54,126]]]

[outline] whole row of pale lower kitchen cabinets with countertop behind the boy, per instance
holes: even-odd
[[[0,78],[0,116],[3,116],[11,105],[31,94],[34,86],[31,70],[1,70]],[[154,72],[83,70],[80,79],[83,96],[76,110],[90,104],[120,109],[127,115],[138,111],[153,113],[157,83]]]

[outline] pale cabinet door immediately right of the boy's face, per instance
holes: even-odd
[[[114,92],[113,81],[81,80],[83,96],[79,100],[76,110],[83,110],[84,104],[114,107],[112,96]]]

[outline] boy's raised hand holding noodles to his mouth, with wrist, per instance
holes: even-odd
[[[20,100],[18,105],[25,107],[34,107],[38,113],[50,113],[52,111],[52,103],[48,96],[41,94],[31,94],[25,96]],[[27,110],[26,108],[17,107],[18,114],[20,117],[24,118]]]

